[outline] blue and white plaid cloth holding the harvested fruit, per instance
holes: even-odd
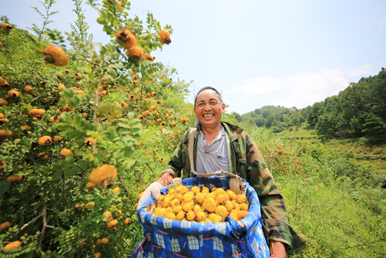
[[[182,179],[192,186],[229,188],[229,176],[193,177]],[[167,188],[161,190],[167,193]],[[150,197],[138,209],[137,217],[143,226],[144,238],[131,257],[269,257],[267,241],[262,233],[260,202],[255,190],[245,181],[248,215],[241,219],[245,227],[227,217],[221,223],[178,221],[149,214],[145,207],[154,203]]]

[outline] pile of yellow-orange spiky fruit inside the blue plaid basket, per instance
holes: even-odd
[[[237,195],[230,189],[206,186],[171,185],[168,193],[161,195],[154,205],[155,216],[179,221],[218,223],[224,222],[227,216],[239,221],[248,214],[248,200],[244,193]]]

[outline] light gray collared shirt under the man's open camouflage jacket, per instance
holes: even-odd
[[[220,134],[207,146],[202,131],[199,131],[197,143],[196,171],[199,174],[213,173],[219,170],[228,171],[229,161],[227,152],[227,137],[225,128],[222,127]]]

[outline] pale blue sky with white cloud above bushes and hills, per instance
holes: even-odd
[[[27,29],[43,21],[44,0],[0,0],[0,15]],[[51,29],[69,32],[71,0],[56,0]],[[88,33],[105,44],[98,12],[84,4]],[[385,0],[140,0],[131,18],[150,12],[171,25],[171,44],[152,52],[193,81],[187,100],[204,86],[222,93],[228,112],[242,115],[265,105],[305,108],[337,95],[386,66]]]

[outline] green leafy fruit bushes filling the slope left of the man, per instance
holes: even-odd
[[[95,49],[80,3],[74,1],[78,20],[67,34],[72,49],[66,67],[45,64],[39,53],[52,41],[64,43],[60,32],[45,28],[55,1],[44,2],[46,14],[35,8],[44,18],[41,29],[32,29],[37,37],[20,29],[0,32],[0,76],[9,84],[0,89],[8,102],[0,106],[1,129],[13,133],[0,139],[0,222],[11,223],[0,232],[1,257],[128,256],[143,237],[135,215],[138,195],[159,175],[192,123],[192,111],[182,105],[189,83],[180,81],[174,68],[128,58],[115,39]],[[112,34],[130,27],[145,53],[161,49],[160,23],[151,13],[147,27],[129,18],[129,4],[95,5],[98,20]],[[8,96],[11,89],[20,96]],[[32,117],[33,108],[44,115]],[[181,117],[187,118],[184,124]],[[42,136],[52,141],[41,145]],[[118,171],[115,185],[86,187],[91,171],[106,164]],[[6,180],[15,175],[21,180]],[[104,219],[107,210],[112,217]],[[127,226],[126,218],[131,219]],[[118,224],[109,228],[113,219]],[[99,245],[101,238],[109,243]],[[3,252],[13,240],[22,246]]]

